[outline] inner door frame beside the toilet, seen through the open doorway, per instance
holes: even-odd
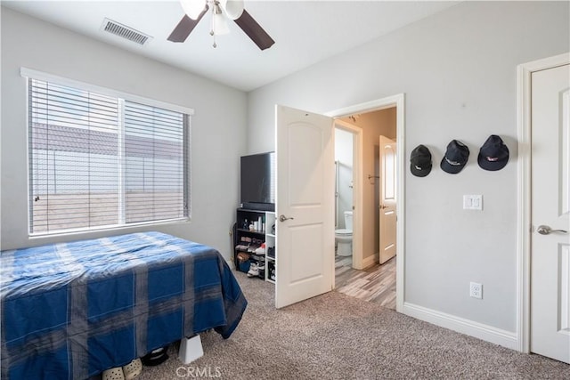
[[[353,133],[353,268],[362,270],[362,128],[336,118],[335,128]]]

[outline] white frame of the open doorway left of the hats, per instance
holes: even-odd
[[[405,284],[405,94],[398,93],[386,98],[377,99],[374,101],[366,101],[363,103],[348,106],[342,109],[335,109],[326,112],[324,115],[329,117],[348,117],[358,113],[367,113],[377,111],[380,109],[396,108],[396,153],[397,154],[397,199],[396,199],[396,212],[398,219],[396,222],[396,245],[398,247],[395,267],[395,311],[403,312],[403,295]],[[362,188],[362,177],[361,177]],[[362,218],[362,216],[361,216]],[[354,221],[353,221],[354,222]],[[362,220],[361,220],[362,223]],[[362,225],[362,224],[361,224]]]

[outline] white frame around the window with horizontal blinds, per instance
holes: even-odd
[[[71,235],[77,233],[89,233],[94,231],[101,231],[101,230],[122,230],[122,229],[132,229],[138,226],[148,226],[148,225],[161,225],[165,223],[178,223],[178,222],[190,222],[191,221],[191,117],[194,115],[194,109],[168,103],[165,101],[158,101],[151,98],[142,97],[139,95],[134,95],[133,93],[125,93],[118,90],[110,89],[107,87],[102,87],[99,85],[92,85],[85,82],[77,81],[74,79],[69,79],[65,77],[59,77],[53,74],[48,74],[42,71],[37,71],[34,69],[27,69],[27,68],[20,68],[20,76],[26,79],[26,146],[27,146],[27,198],[28,198],[28,237],[30,238],[39,238],[39,237],[50,237],[50,236],[64,236],[64,235]],[[187,188],[187,215],[179,218],[172,218],[172,219],[164,219],[158,221],[145,221],[145,222],[124,222],[124,216],[122,215],[118,217],[117,224],[107,224],[103,226],[96,226],[96,227],[82,227],[77,229],[66,229],[66,230],[53,230],[53,231],[41,231],[41,232],[32,232],[31,231],[31,207],[32,207],[32,194],[30,192],[30,179],[31,179],[31,169],[30,169],[30,107],[31,104],[29,103],[29,80],[36,79],[39,81],[45,81],[47,83],[52,83],[53,85],[62,85],[75,88],[80,91],[85,92],[92,92],[92,93],[99,93],[105,96],[110,96],[118,99],[122,99],[124,101],[132,101],[136,103],[141,103],[146,106],[156,107],[160,109],[167,109],[174,112],[180,112],[187,117],[187,123],[185,127],[187,131],[183,133],[183,149],[187,150],[185,153],[186,157],[186,166],[185,170],[183,171],[183,181],[185,181],[185,186]]]

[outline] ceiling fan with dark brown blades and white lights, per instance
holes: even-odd
[[[273,38],[243,8],[243,0],[180,0],[180,4],[186,14],[168,36],[168,41],[184,42],[198,25],[199,20],[211,11],[210,35],[214,36],[214,47],[216,47],[216,36],[229,33],[227,19],[234,20],[259,49],[265,50],[275,43]]]

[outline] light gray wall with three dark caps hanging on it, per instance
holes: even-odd
[[[434,170],[406,168],[405,302],[516,331],[517,65],[570,46],[567,2],[465,2],[248,94],[248,151],[273,150],[274,104],[328,112],[406,94],[405,154],[432,150]],[[509,165],[476,164],[489,134]],[[439,168],[452,139],[471,157],[460,174]],[[406,164],[408,165],[408,164]],[[484,210],[462,210],[483,194]],[[469,281],[484,299],[468,297]]]

